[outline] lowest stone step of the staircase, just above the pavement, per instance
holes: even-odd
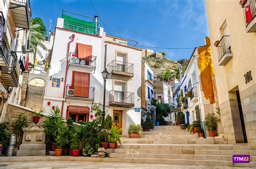
[[[256,167],[256,162],[250,164],[233,163],[232,161],[220,160],[190,160],[190,159],[158,159],[158,158],[112,158],[123,163],[145,163],[145,164],[175,164],[175,165],[204,165],[204,166],[237,166]]]

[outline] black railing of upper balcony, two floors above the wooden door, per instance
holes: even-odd
[[[133,64],[127,63],[127,62],[122,62],[119,60],[113,60],[112,62],[107,64],[107,71],[109,71],[109,72],[118,71],[118,72],[125,72],[125,73],[133,74]]]

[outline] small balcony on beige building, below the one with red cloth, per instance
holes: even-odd
[[[216,43],[216,42],[215,42]],[[230,45],[230,36],[223,36],[216,44],[218,50],[219,66],[225,65],[233,56]]]

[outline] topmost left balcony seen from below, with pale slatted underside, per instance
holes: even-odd
[[[29,29],[31,18],[30,0],[11,0],[9,9],[14,16],[16,27]]]

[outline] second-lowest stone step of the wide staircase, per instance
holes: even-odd
[[[234,154],[250,154],[256,156],[255,150],[159,150],[159,149],[114,149],[114,153],[134,154],[193,154],[193,155],[215,155],[233,156]]]

